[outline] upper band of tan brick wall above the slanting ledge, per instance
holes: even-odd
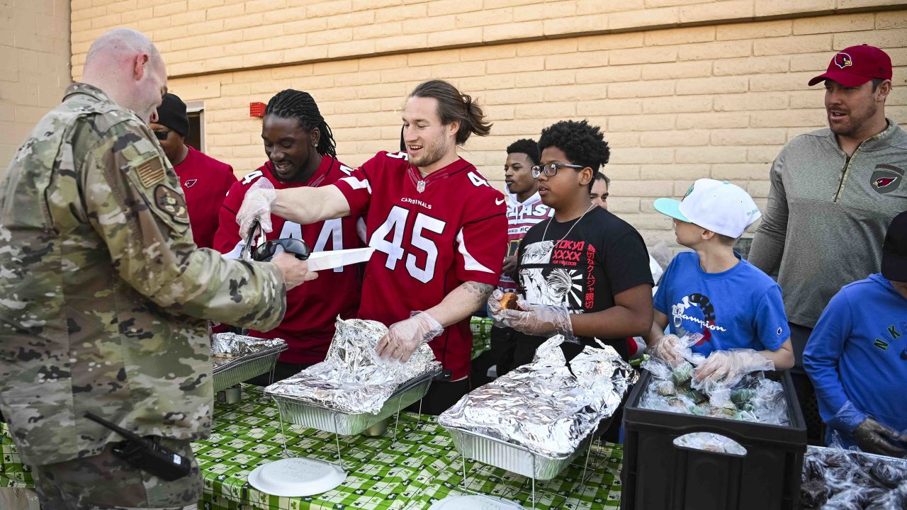
[[[452,46],[824,15],[907,2],[73,0],[72,5],[73,75],[78,77],[89,45],[113,26],[131,26],[148,34],[163,52],[171,74],[182,76]]]

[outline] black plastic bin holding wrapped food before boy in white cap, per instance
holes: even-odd
[[[639,407],[651,374],[642,372],[624,407],[623,510],[788,510],[799,507],[806,426],[794,384],[779,380],[790,425],[779,427]],[[675,446],[678,436],[712,432],[746,448],[746,455]]]

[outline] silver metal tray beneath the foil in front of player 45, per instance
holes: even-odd
[[[440,373],[440,370],[429,372],[401,384],[387,398],[385,405],[377,414],[347,413],[294,397],[279,395],[270,397],[274,398],[278,405],[281,421],[340,436],[353,436],[363,433],[366,429],[421,400],[428,393],[432,379]]]

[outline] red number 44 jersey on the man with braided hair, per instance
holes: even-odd
[[[345,164],[330,156],[324,156],[317,171],[305,184],[282,182],[274,177],[273,165],[250,172],[242,181],[230,188],[227,199],[220,209],[220,227],[214,238],[214,248],[229,258],[239,258],[246,240],[239,239],[239,225],[236,211],[246,196],[246,191],[258,179],[267,179],[274,188],[284,190],[300,186],[327,186],[353,172]],[[306,241],[312,252],[346,250],[358,248],[356,218],[319,221],[311,225],[299,225],[276,215],[271,215],[273,230],[268,240],[295,238]],[[260,338],[283,338],[288,349],[280,355],[288,363],[317,363],[327,354],[327,348],[334,337],[334,322],[339,315],[342,319],[356,317],[361,288],[359,266],[344,266],[335,270],[318,272],[318,278],[287,292],[287,314],[276,329],[255,331],[252,335]]]

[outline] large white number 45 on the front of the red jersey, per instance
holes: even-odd
[[[409,217],[409,210],[400,206],[394,206],[387,220],[381,224],[372,234],[372,240],[369,246],[375,250],[383,251],[387,255],[385,267],[388,270],[395,270],[397,262],[403,260],[406,255],[406,270],[415,280],[428,283],[434,278],[434,266],[438,260],[438,248],[434,241],[425,238],[422,233],[424,230],[441,234],[444,232],[444,221],[432,218],[427,214],[419,212],[415,216],[413,224],[413,237],[410,245],[414,248],[425,252],[425,267],[416,266],[416,259],[413,253],[406,254],[403,248],[403,236],[406,228],[406,219]],[[388,235],[392,235],[391,240],[387,240]]]

